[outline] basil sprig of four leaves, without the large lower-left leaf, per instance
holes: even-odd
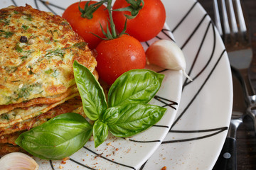
[[[166,111],[166,108],[146,104],[159,90],[164,79],[163,74],[148,69],[132,69],[125,72],[110,87],[109,108],[106,108],[102,87],[90,70],[76,61],[73,69],[85,114],[88,118],[96,120],[92,130],[95,147],[107,139],[108,130],[116,137],[130,137],[157,123]],[[93,103],[92,106],[90,103]],[[100,107],[99,103],[104,107]],[[93,105],[100,109],[95,109]]]

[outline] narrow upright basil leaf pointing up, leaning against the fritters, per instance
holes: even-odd
[[[97,120],[107,109],[104,91],[89,69],[77,61],[74,62],[73,69],[83,110],[90,120]]]

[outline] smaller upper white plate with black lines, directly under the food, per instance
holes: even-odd
[[[51,11],[61,16],[64,9],[76,1],[78,0],[0,0],[0,8],[9,5],[24,6],[25,4],[29,4],[41,11]],[[168,26],[165,26],[154,40],[144,42],[142,45],[146,50],[148,45],[159,39],[174,39]],[[70,159],[68,159],[65,164],[62,163],[61,160],[46,161],[35,158],[40,164],[40,169],[59,169],[60,166],[62,166],[63,169],[139,169],[154,151],[156,151],[164,140],[166,134],[169,132],[181,99],[183,81],[181,71],[162,69],[158,69],[157,71],[166,75],[161,89],[151,101],[151,104],[167,108],[164,117],[159,123],[149,130],[128,139],[116,138],[110,135],[110,137],[107,138],[107,141],[100,145],[100,147],[97,147],[97,149],[94,148],[93,142],[87,142],[82,149],[70,156]]]

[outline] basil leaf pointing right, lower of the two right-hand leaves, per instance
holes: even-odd
[[[166,108],[148,104],[127,104],[117,106],[119,115],[107,124],[110,132],[116,137],[130,137],[156,124],[164,115]],[[112,111],[115,112],[113,109]],[[111,113],[108,113],[111,115]],[[114,113],[115,114],[115,113]]]

